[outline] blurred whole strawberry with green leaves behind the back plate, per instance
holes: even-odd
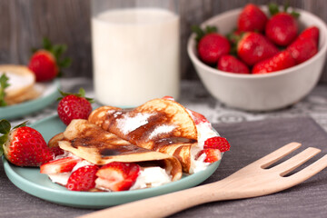
[[[60,74],[61,68],[70,64],[70,59],[61,59],[66,47],[64,45],[52,45],[44,38],[44,49],[36,50],[32,55],[28,68],[35,73],[36,81],[48,81]]]

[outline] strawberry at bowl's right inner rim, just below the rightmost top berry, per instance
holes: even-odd
[[[291,45],[287,47],[296,64],[311,58],[318,53],[316,42],[312,38],[298,38]]]

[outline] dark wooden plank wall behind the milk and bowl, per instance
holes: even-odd
[[[181,15],[182,78],[198,79],[186,53],[190,26],[213,15],[252,2],[266,5],[266,0],[179,0]],[[284,4],[284,1],[274,1]],[[312,12],[327,22],[326,0],[290,0],[290,5]],[[66,77],[92,77],[89,0],[0,0],[0,64],[27,64],[30,48],[40,46],[48,36],[56,43],[68,45],[73,59]],[[327,67],[321,78],[327,82]]]

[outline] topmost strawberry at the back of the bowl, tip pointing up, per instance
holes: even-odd
[[[257,5],[245,5],[238,18],[238,30],[243,32],[263,32],[267,20],[267,16]]]

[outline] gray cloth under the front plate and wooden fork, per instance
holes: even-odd
[[[266,119],[238,124],[214,124],[228,138],[231,151],[223,156],[217,171],[204,183],[223,179],[248,163],[269,154],[283,144],[302,143],[327,152],[327,134],[312,118]],[[318,154],[313,161],[322,156]],[[312,163],[309,161],[307,164]],[[326,217],[327,170],[282,193],[268,196],[206,203],[174,214],[172,217]],[[93,210],[77,209],[48,203],[31,196],[11,183],[0,164],[0,217],[76,217]],[[126,212],[127,213],[127,212]]]

